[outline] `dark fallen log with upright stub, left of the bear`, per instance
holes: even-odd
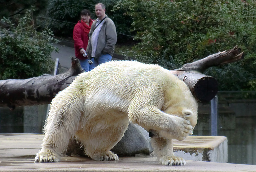
[[[49,104],[54,95],[64,90],[83,72],[79,60],[72,58],[71,68],[59,75],[42,75],[29,79],[0,80],[0,107]]]

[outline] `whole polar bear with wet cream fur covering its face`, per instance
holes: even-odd
[[[183,140],[197,124],[198,104],[187,85],[156,64],[111,61],[82,73],[51,102],[42,149],[35,162],[58,162],[75,137],[97,161],[118,160],[110,151],[129,121],[157,132],[151,138],[163,165],[185,165],[172,139]]]

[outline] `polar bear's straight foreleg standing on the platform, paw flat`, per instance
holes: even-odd
[[[186,161],[181,157],[174,156],[172,139],[151,138],[158,161],[162,165],[185,165]]]

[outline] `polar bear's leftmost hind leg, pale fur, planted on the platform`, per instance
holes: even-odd
[[[42,149],[36,154],[35,162],[58,162],[67,148],[69,140],[79,126],[81,111],[75,103],[69,107],[53,102],[44,128]]]

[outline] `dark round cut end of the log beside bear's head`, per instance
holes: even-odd
[[[218,93],[218,82],[214,77],[203,77],[194,86],[192,94],[198,101],[209,102]]]

